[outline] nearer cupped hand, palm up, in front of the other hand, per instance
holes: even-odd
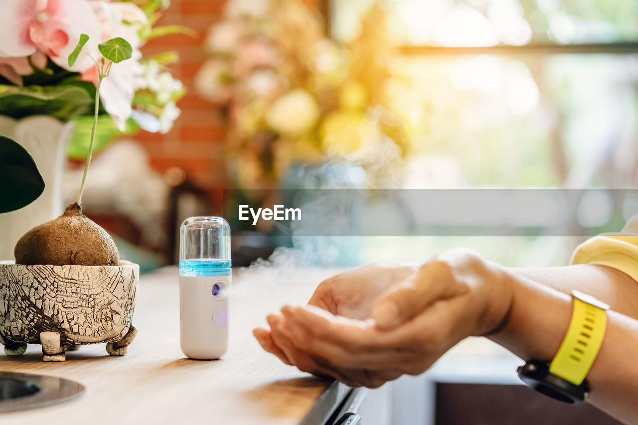
[[[500,266],[472,251],[447,251],[388,288],[364,320],[316,306],[284,308],[269,320],[271,348],[303,371],[378,387],[422,373],[467,336],[498,329],[511,305],[508,282]]]

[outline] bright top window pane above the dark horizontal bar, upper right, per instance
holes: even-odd
[[[375,0],[333,0],[332,34],[357,36]],[[638,40],[633,0],[394,0],[383,3],[402,45],[490,46]]]

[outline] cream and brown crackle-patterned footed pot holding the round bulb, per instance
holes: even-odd
[[[0,264],[0,343],[8,355],[41,344],[44,361],[64,361],[65,346],[107,343],[126,354],[139,266]]]

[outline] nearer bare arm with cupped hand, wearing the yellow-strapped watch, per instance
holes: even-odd
[[[269,317],[271,332],[256,333],[260,341],[268,336],[264,348],[272,345],[279,351],[269,351],[303,371],[378,387],[404,373],[426,371],[467,336],[488,336],[526,360],[551,361],[567,333],[572,300],[476,253],[453,250],[390,287],[365,320],[316,306],[286,307],[282,313]],[[587,377],[588,400],[636,422],[638,321],[608,314],[607,332]]]

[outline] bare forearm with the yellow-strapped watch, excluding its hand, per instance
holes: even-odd
[[[563,276],[570,277],[572,267]],[[573,301],[568,295],[536,285],[528,280],[528,274],[510,270],[508,275],[513,288],[508,319],[489,338],[523,359],[551,361],[567,333]],[[552,276],[543,280],[554,281]],[[587,375],[591,387],[588,401],[623,422],[638,423],[638,321],[615,311],[607,314],[605,337]]]

